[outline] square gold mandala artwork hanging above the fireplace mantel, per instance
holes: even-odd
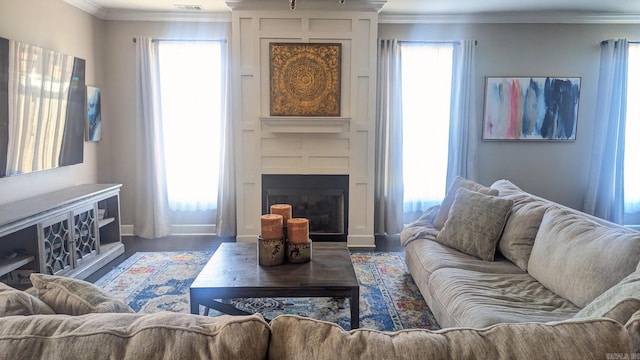
[[[271,116],[340,116],[342,44],[270,43]]]

